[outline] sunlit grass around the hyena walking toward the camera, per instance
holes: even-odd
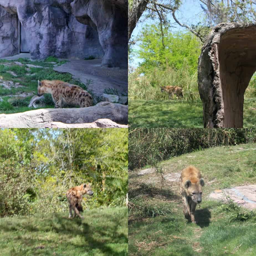
[[[205,160],[207,159],[207,161]],[[256,183],[256,144],[216,147],[161,163],[164,173],[198,167],[206,185],[203,202],[192,224],[185,219],[178,182],[164,182],[155,174],[129,175],[129,255],[255,255],[256,219],[230,221],[237,210],[207,200],[215,189]],[[152,184],[149,184],[149,183]],[[137,205],[137,206],[135,206]],[[240,209],[247,213],[245,209]],[[152,217],[152,215],[156,217]],[[255,216],[255,214],[254,214]]]

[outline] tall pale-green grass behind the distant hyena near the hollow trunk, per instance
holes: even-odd
[[[168,93],[161,93],[161,86],[179,86],[183,89],[184,99],[193,101],[199,98],[197,86],[197,74],[190,75],[184,66],[181,70],[167,68],[155,68],[151,73],[140,76],[139,70],[128,75],[129,99],[165,100]]]

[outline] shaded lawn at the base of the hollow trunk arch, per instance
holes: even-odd
[[[203,105],[181,100],[129,100],[129,124],[135,127],[203,127]],[[256,127],[256,99],[244,101],[244,127]]]

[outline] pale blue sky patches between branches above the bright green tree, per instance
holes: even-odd
[[[198,0],[183,0],[183,4],[181,5],[181,8],[179,11],[175,12],[175,16],[176,18],[181,22],[181,23],[185,23],[186,25],[190,25],[190,24],[197,24],[202,17],[203,12],[202,9],[200,7],[200,1]],[[170,15],[169,16],[170,21],[174,23],[174,19],[173,17]],[[158,20],[156,20],[156,23],[159,22]],[[140,30],[142,29],[142,27],[145,24],[154,24],[153,20],[147,21],[147,22],[138,22],[135,29],[132,32],[132,36],[136,36],[139,34]],[[183,30],[185,31],[186,29],[183,27],[180,27],[178,24],[175,25],[176,27],[172,28],[172,31],[178,31],[178,30]],[[135,45],[133,47],[135,50],[139,49],[138,45]],[[133,58],[133,62],[131,63],[132,66],[137,67],[138,63],[141,62],[142,60],[139,58],[134,57]]]

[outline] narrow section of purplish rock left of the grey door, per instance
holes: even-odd
[[[0,58],[19,54],[18,16],[0,6]]]

